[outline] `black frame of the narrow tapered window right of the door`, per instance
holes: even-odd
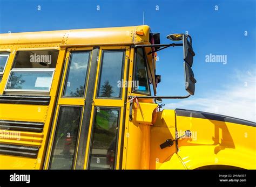
[[[133,82],[135,81],[135,71],[136,71],[136,64],[137,64],[137,50],[138,48],[135,49],[134,51],[134,59],[133,59],[133,62],[134,62],[134,66],[133,66],[133,77],[132,77],[132,80]],[[132,86],[132,93],[139,93],[139,94],[142,94],[142,95],[146,95],[146,96],[151,96],[151,89],[150,89],[150,82],[149,82],[149,75],[148,75],[148,64],[147,64],[147,57],[145,55],[145,49],[144,47],[142,47],[142,50],[143,50],[143,59],[145,61],[145,69],[146,69],[146,79],[147,79],[147,88],[149,89],[149,92],[148,93],[145,93],[145,92],[142,92],[142,91],[137,91],[134,86]]]

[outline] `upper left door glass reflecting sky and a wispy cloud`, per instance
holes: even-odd
[[[65,82],[64,96],[83,97],[90,52],[72,52]]]

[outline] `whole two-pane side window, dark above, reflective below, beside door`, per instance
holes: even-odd
[[[5,91],[50,92],[57,50],[18,51]]]

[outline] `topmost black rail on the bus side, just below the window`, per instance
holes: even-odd
[[[50,96],[0,95],[0,103],[49,105]]]

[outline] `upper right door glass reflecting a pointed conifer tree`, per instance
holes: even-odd
[[[103,51],[98,97],[121,97],[124,51]]]

